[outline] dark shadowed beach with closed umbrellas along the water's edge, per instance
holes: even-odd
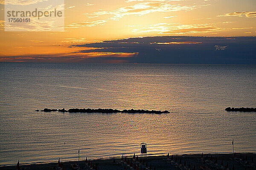
[[[126,157],[126,158],[125,158]],[[64,161],[23,164],[20,170],[255,170],[256,153],[184,154],[164,156],[125,156],[110,159]],[[72,167],[73,166],[73,167]],[[14,170],[17,165],[1,166],[0,170]]]

